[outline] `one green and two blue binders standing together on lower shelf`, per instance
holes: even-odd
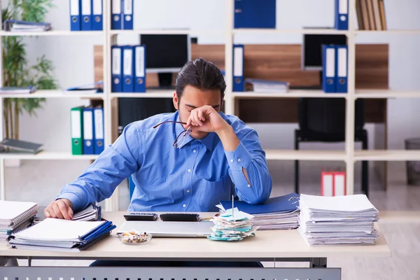
[[[78,106],[71,109],[71,153],[99,155],[104,151],[104,109]]]

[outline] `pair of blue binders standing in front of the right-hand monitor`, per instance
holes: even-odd
[[[322,45],[322,89],[328,93],[347,92],[347,45]]]

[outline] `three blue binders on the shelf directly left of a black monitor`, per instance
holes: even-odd
[[[111,92],[146,92],[146,45],[111,46]]]

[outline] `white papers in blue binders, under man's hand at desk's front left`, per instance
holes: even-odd
[[[69,221],[46,218],[8,237],[12,248],[44,251],[83,251],[111,235],[111,221]]]

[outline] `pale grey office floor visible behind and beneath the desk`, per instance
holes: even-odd
[[[61,186],[78,176],[89,162],[78,161],[23,161],[20,168],[6,169],[6,195],[8,200],[32,200],[46,205],[55,198]],[[370,170],[370,200],[381,210],[420,210],[420,186],[405,184],[402,162],[390,162],[388,190]],[[300,188],[302,193],[319,193],[319,172],[322,169],[344,169],[337,162],[301,162]],[[293,162],[270,161],[272,196],[293,191]],[[356,165],[356,193],[360,191],[360,164]],[[127,183],[120,187],[120,209],[128,206]],[[329,259],[328,266],[342,267],[343,280],[362,279],[420,279],[420,223],[383,223],[382,232],[391,248],[391,258]],[[34,260],[32,265],[85,266],[85,260]],[[26,265],[26,260],[20,264]],[[264,264],[272,267],[272,262]],[[276,267],[305,267],[304,263],[276,263]]]

